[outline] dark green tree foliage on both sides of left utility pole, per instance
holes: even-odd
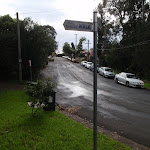
[[[32,72],[35,78],[40,69],[46,66],[47,57],[57,49],[56,31],[52,26],[39,25],[30,18],[20,20],[19,23],[23,79],[29,78],[28,60],[32,61]],[[9,15],[0,17],[0,69],[3,70],[4,76],[11,72],[16,74],[18,72],[16,27],[16,20]]]

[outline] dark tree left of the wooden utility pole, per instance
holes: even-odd
[[[16,20],[9,15],[0,17],[0,70],[5,77],[16,69],[17,28]]]

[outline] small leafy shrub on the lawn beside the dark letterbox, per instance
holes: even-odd
[[[56,83],[52,82],[50,77],[46,79],[46,82],[38,80],[35,83],[29,83],[26,87],[26,93],[31,100],[32,114],[35,106],[41,108],[41,105],[48,105],[49,96],[52,95],[53,89],[56,87]],[[37,110],[36,110],[37,111]]]

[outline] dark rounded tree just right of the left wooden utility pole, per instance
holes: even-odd
[[[45,67],[48,55],[51,55],[57,49],[55,41],[56,31],[49,25],[38,25],[30,18],[22,21],[22,52],[24,53],[24,74],[29,76],[27,61],[32,60],[32,69],[34,75],[38,75],[41,68]]]

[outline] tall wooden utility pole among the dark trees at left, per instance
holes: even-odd
[[[17,35],[18,35],[18,63],[19,63],[19,82],[22,82],[22,59],[21,59],[21,42],[20,42],[20,26],[19,26],[19,17],[17,15]]]

